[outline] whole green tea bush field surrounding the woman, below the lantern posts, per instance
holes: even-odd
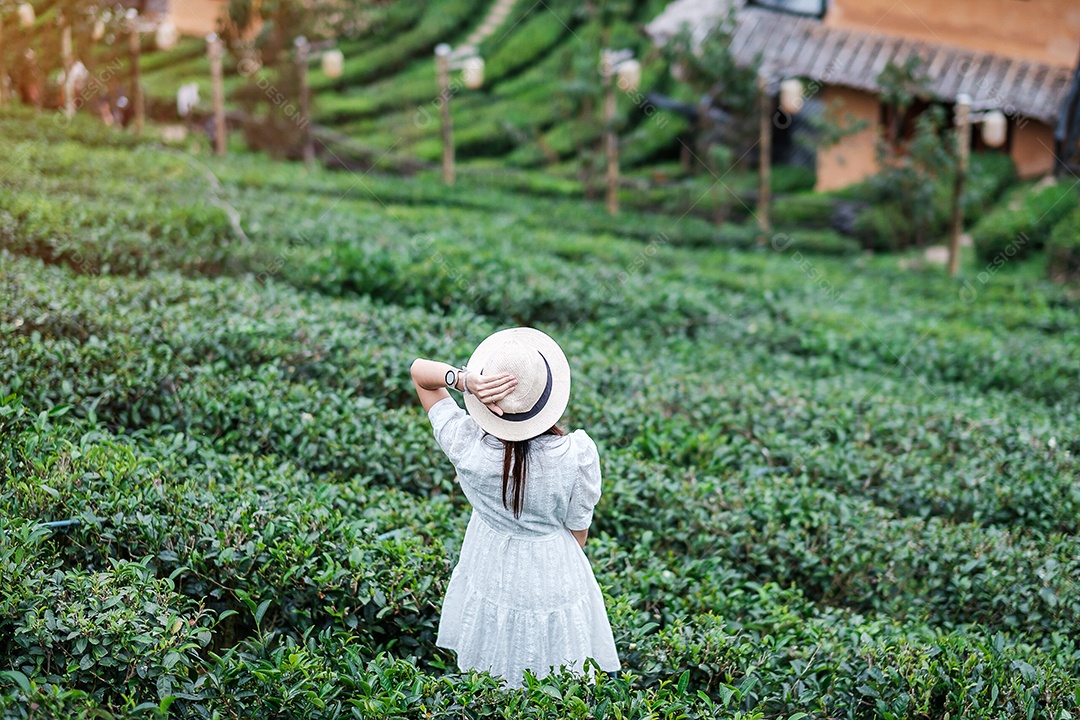
[[[2,122],[0,716],[1080,715],[1069,288]],[[434,646],[470,511],[406,368],[512,323],[623,668],[503,691]]]

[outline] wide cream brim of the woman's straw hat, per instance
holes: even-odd
[[[521,420],[496,415],[476,399],[475,395],[464,396],[465,409],[485,432],[503,440],[527,440],[542,435],[563,417],[570,402],[570,364],[563,349],[546,334],[532,327],[513,327],[494,332],[476,345],[472,357],[469,358],[470,371],[483,373],[491,352],[507,340],[515,340],[535,348],[548,362],[548,367],[551,369],[551,393],[546,402],[537,409],[538,411],[530,412],[528,418]]]

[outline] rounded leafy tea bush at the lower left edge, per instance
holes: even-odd
[[[19,527],[6,524],[4,534]],[[32,569],[40,562],[32,551],[46,554],[43,539],[23,540],[22,557],[0,549],[14,570],[0,581],[0,654],[10,668],[108,704],[193,692],[199,653],[212,637],[210,613],[171,580],[154,578],[146,560],[119,560],[102,572],[65,571],[52,561]]]

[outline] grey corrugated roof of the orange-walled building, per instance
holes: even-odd
[[[684,16],[692,23],[716,25],[694,14],[723,0],[678,0]],[[674,32],[671,22],[648,27],[649,35],[663,44]],[[689,18],[689,17],[688,17]],[[696,37],[699,35],[696,29]],[[707,30],[701,32],[704,37]],[[1005,114],[1027,117],[1053,125],[1072,81],[1072,70],[995,53],[940,43],[908,40],[881,32],[828,27],[813,17],[779,13],[761,8],[739,10],[731,51],[740,63],[760,56],[761,69],[773,80],[807,78],[814,82],[878,92],[877,77],[890,62],[900,64],[912,55],[922,58],[928,92],[943,100],[960,94],[972,97],[975,109],[996,108]]]

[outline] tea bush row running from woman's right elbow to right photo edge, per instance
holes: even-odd
[[[1048,646],[1080,629],[1071,535],[895,518],[780,473],[697,477],[618,452],[605,470],[597,527],[652,552],[718,555],[816,601],[935,626],[980,623]]]

